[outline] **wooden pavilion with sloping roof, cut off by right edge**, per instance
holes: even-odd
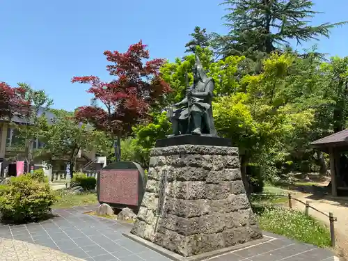
[[[348,172],[344,171],[344,173],[341,173],[343,172],[342,161],[345,159],[342,159],[341,155],[343,152],[348,152],[348,129],[326,136],[317,141],[313,141],[310,144],[314,148],[329,153],[330,155],[332,196],[338,196],[338,191],[342,191],[342,194],[344,191],[348,191],[345,182],[348,177]]]

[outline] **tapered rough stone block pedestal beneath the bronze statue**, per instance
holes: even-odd
[[[153,149],[131,233],[182,257],[262,238],[246,197],[238,149],[212,145]]]

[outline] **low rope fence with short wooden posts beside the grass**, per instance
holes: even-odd
[[[273,197],[286,197],[288,200],[289,208],[292,209],[292,200],[295,200],[303,205],[306,206],[305,209],[305,214],[306,216],[309,216],[309,209],[313,209],[320,214],[323,214],[324,216],[327,216],[329,218],[329,223],[330,223],[330,236],[331,236],[331,246],[335,246],[335,221],[337,221],[337,218],[333,216],[333,212],[329,212],[329,214],[326,214],[325,212],[320,211],[319,209],[316,209],[315,207],[310,205],[309,201],[303,202],[302,200],[299,200],[297,198],[292,197],[291,193],[288,193],[287,195],[283,194],[258,194],[258,193],[252,193],[253,196],[273,196]]]

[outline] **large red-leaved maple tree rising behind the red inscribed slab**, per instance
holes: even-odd
[[[127,52],[105,51],[106,70],[116,79],[106,83],[95,76],[73,77],[72,82],[90,84],[87,93],[94,95],[93,104],[82,106],[75,111],[78,120],[90,122],[97,129],[117,137],[118,155],[120,139],[132,132],[132,127],[149,117],[150,107],[154,106],[171,91],[161,79],[159,68],[164,59],[149,59],[150,54],[142,41],[130,45]],[[101,105],[101,106],[100,106]]]

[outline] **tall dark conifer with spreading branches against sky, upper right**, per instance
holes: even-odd
[[[228,6],[224,18],[230,29],[228,35],[217,37],[223,56],[257,59],[260,52],[269,54],[277,45],[289,45],[289,40],[301,44],[322,35],[329,38],[331,29],[346,23],[310,26],[311,18],[319,13],[312,10],[310,0],[226,0],[221,5]]]

